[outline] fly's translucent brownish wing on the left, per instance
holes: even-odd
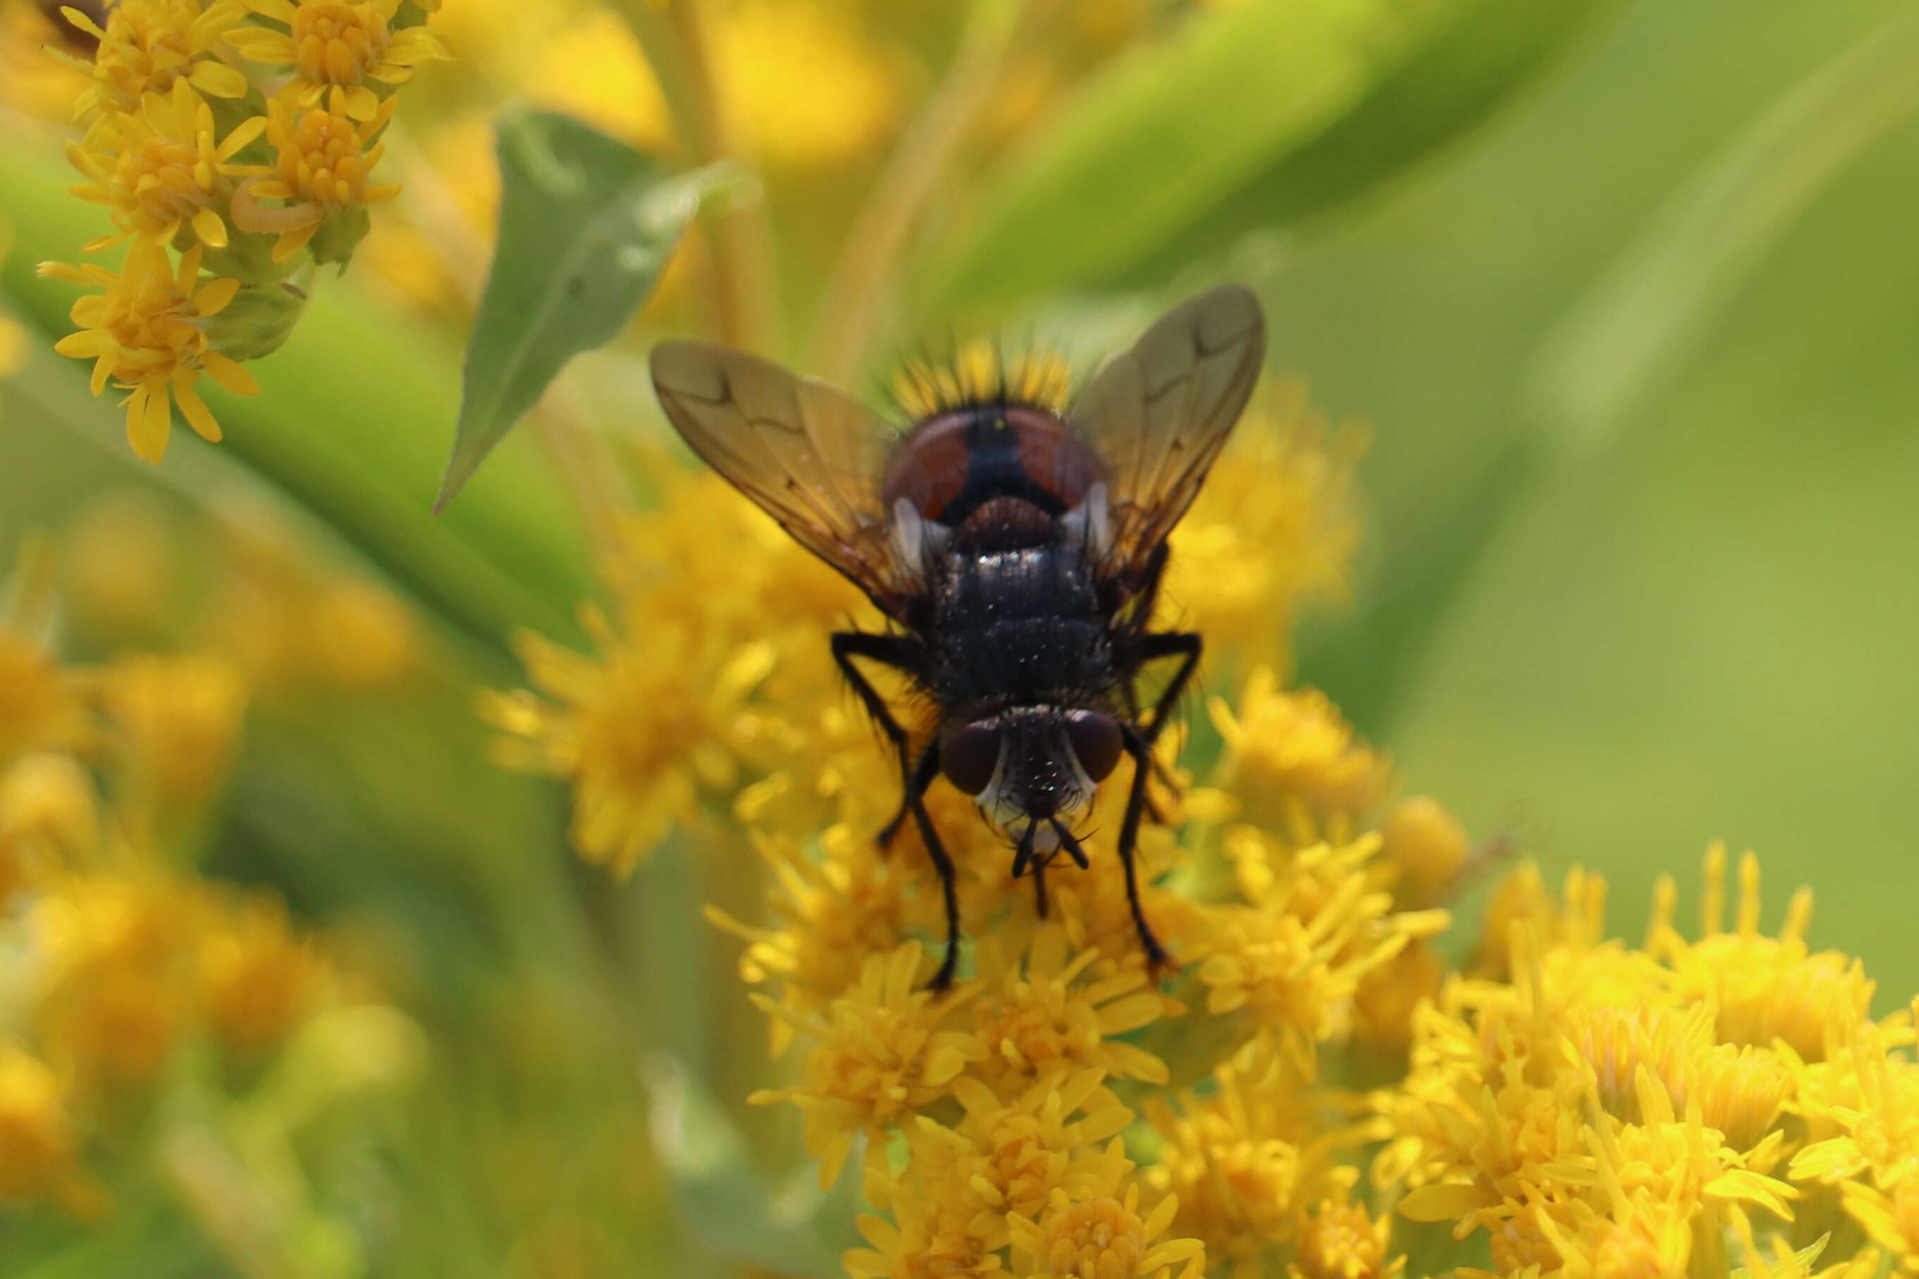
[[[652,390],[695,453],[896,615],[915,570],[881,503],[890,426],[825,382],[706,342],[654,346]]]

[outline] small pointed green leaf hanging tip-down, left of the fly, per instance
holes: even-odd
[[[436,509],[580,351],[620,334],[666,269],[714,171],[668,177],[555,111],[499,117],[499,244],[466,344],[459,432]]]

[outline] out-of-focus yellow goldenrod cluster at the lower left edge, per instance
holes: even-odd
[[[213,1204],[261,1160],[286,1175],[280,1120],[320,1100],[294,1097],[313,1072],[411,1070],[418,1033],[278,897],[194,870],[244,668],[211,649],[67,664],[52,605],[29,553],[0,609],[0,1206],[98,1221],[155,1177]],[[228,1089],[244,1137],[213,1118]]]

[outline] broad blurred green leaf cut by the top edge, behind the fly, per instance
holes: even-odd
[[[1612,0],[1261,0],[1086,81],[983,182],[927,313],[1171,275],[1378,186]]]

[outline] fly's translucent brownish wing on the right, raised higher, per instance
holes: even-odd
[[[1186,515],[1240,421],[1267,357],[1259,300],[1238,284],[1188,298],[1109,359],[1067,421],[1105,463],[1111,549],[1102,574],[1132,586]]]

